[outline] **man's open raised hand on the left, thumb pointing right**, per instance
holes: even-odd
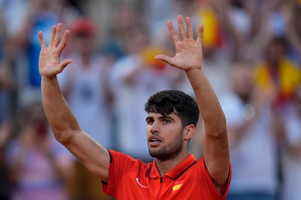
[[[67,64],[72,62],[70,59],[60,62],[61,53],[67,44],[67,39],[69,36],[69,31],[65,31],[61,41],[61,31],[62,24],[52,26],[48,47],[46,47],[42,31],[39,32],[39,39],[41,43],[39,72],[42,77],[55,77],[57,74],[63,71]]]

